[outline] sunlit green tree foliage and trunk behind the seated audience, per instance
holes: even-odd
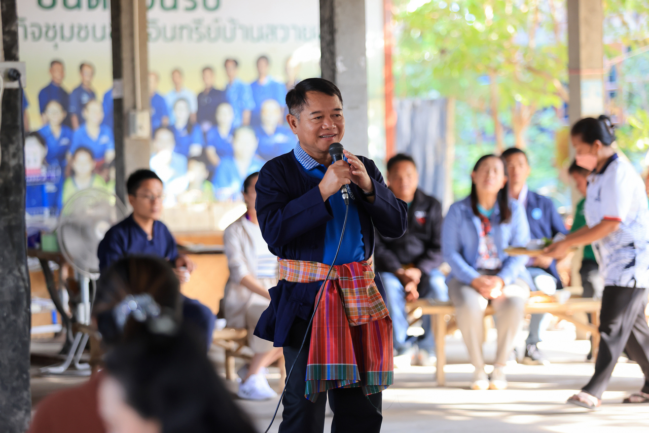
[[[556,185],[554,130],[560,122],[555,109],[568,98],[565,3],[411,0],[396,5],[396,94],[458,99],[456,198],[468,192],[469,172],[480,155],[525,147],[528,137],[535,164],[530,183],[543,186],[550,179]]]

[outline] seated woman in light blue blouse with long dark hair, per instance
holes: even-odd
[[[442,253],[450,265],[448,295],[456,306],[459,330],[475,367],[474,390],[507,387],[503,367],[530,295],[526,256],[508,256],[507,247],[530,240],[525,210],[508,197],[505,165],[495,155],[482,156],[471,173],[471,195],[450,206],[442,228]],[[483,317],[487,304],[496,312],[498,349],[491,380],[482,356]]]

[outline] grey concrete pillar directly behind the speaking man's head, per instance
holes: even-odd
[[[365,0],[320,0],[322,77],[343,95],[345,149],[367,155]]]

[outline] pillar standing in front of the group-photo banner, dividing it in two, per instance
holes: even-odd
[[[113,0],[115,169],[117,197],[125,201],[125,181],[138,168],[149,167],[149,48],[146,0]]]

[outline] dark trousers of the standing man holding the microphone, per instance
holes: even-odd
[[[289,332],[288,345],[284,346],[286,372],[295,362],[293,373],[286,383],[284,412],[280,433],[321,433],[324,430],[324,409],[329,396],[329,404],[334,412],[332,433],[378,433],[381,430],[381,393],[365,396],[361,388],[337,388],[328,393],[320,393],[315,402],[304,397],[304,378],[309,354],[309,330],[304,349],[298,355],[300,344],[306,333],[307,321],[295,319]]]

